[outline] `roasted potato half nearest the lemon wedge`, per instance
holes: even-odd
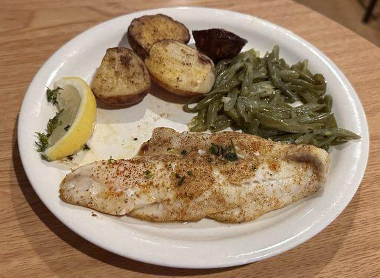
[[[94,80],[94,95],[112,106],[128,106],[147,95],[151,79],[144,62],[131,49],[109,48]]]

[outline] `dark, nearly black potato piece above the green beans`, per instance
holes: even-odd
[[[214,63],[235,57],[247,43],[247,40],[224,29],[192,31],[192,36],[197,49]]]

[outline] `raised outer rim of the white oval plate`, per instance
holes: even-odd
[[[324,63],[327,63],[327,65],[329,67],[331,67],[331,70],[334,71],[334,74],[339,77],[340,79],[342,79],[342,83],[345,83],[345,85],[347,85],[349,87],[350,90],[352,90],[352,92],[354,92],[354,94],[352,94],[352,97],[354,97],[354,100],[355,100],[355,103],[356,103],[356,106],[358,107],[359,111],[362,112],[363,115],[363,125],[361,126],[363,128],[363,133],[365,133],[365,136],[363,136],[363,138],[365,137],[367,140],[365,140],[365,142],[363,142],[363,147],[361,148],[361,154],[362,154],[362,157],[364,158],[364,163],[363,163],[363,168],[361,170],[361,172],[359,174],[356,174],[355,175],[355,190],[351,190],[349,193],[349,195],[345,196],[345,200],[344,200],[344,205],[343,206],[340,206],[338,208],[338,210],[336,210],[336,214],[334,216],[332,216],[331,218],[329,218],[328,220],[326,220],[326,218],[324,218],[324,222],[320,222],[319,226],[317,227],[314,227],[313,231],[312,232],[308,232],[308,233],[301,233],[299,235],[297,235],[292,241],[291,243],[284,243],[281,245],[281,248],[278,248],[276,251],[274,252],[268,252],[267,254],[257,258],[257,257],[250,257],[248,259],[240,259],[240,260],[236,260],[236,261],[229,261],[227,263],[225,262],[222,262],[222,263],[219,263],[219,262],[214,262],[214,263],[205,263],[204,265],[192,265],[192,263],[188,263],[188,262],[184,262],[184,263],[176,263],[176,264],[173,264],[173,263],[170,263],[170,262],[165,262],[165,261],[162,261],[160,259],[155,259],[155,258],[152,258],[152,257],[142,257],[142,256],[134,256],[134,254],[128,254],[128,256],[126,256],[126,254],[124,253],[121,253],[119,252],[118,250],[115,250],[113,249],[112,247],[110,246],[106,246],[104,244],[101,244],[99,242],[97,242],[96,238],[91,238],[90,236],[87,236],[85,233],[83,233],[82,231],[80,231],[80,229],[77,229],[74,224],[70,223],[69,221],[67,221],[66,219],[64,218],[61,218],[59,213],[57,213],[53,208],[51,208],[51,206],[49,205],[49,202],[44,202],[43,198],[40,196],[39,194],[39,190],[37,189],[38,186],[34,186],[33,183],[32,183],[32,180],[31,177],[31,172],[28,171],[28,167],[26,167],[27,165],[27,162],[26,162],[26,158],[24,156],[24,152],[22,152],[22,140],[20,140],[20,138],[22,138],[21,136],[21,127],[22,126],[22,118],[23,118],[23,108],[25,107],[25,102],[26,102],[26,96],[28,94],[30,94],[30,91],[31,91],[31,88],[33,87],[34,83],[36,82],[36,80],[38,79],[39,75],[42,74],[42,69],[44,69],[44,67],[47,65],[47,63],[49,63],[49,60],[51,60],[53,57],[55,56],[58,56],[59,52],[61,51],[61,49],[63,49],[65,46],[67,46],[67,44],[69,44],[70,42],[72,42],[73,40],[76,40],[77,38],[79,38],[81,35],[87,35],[89,33],[91,33],[94,29],[97,29],[99,28],[99,26],[101,26],[102,24],[106,24],[107,22],[110,22],[110,21],[117,21],[117,19],[120,19],[122,17],[126,17],[126,16],[133,16],[133,15],[138,15],[140,13],[165,13],[165,11],[167,10],[192,10],[192,9],[201,9],[201,10],[209,10],[210,12],[215,12],[215,11],[218,11],[218,12],[221,12],[221,13],[231,13],[231,14],[234,14],[236,16],[242,16],[242,17],[246,17],[247,19],[253,19],[255,22],[258,22],[260,24],[263,24],[265,26],[270,26],[272,28],[275,28],[279,31],[281,31],[282,33],[286,33],[287,35],[290,35],[290,37],[292,37],[293,39],[297,40],[298,42],[301,42],[302,44],[305,44],[308,46],[308,48],[314,52],[314,54],[316,54],[318,57],[320,58],[323,58],[324,60]],[[363,139],[362,139],[363,140]],[[365,111],[363,109],[363,106],[361,104],[361,101],[356,93],[356,90],[354,90],[354,87],[352,86],[352,84],[349,82],[349,80],[347,79],[347,77],[345,76],[345,74],[343,74],[343,72],[340,71],[340,69],[338,68],[338,66],[333,63],[333,61],[327,57],[322,51],[320,51],[319,49],[317,49],[317,47],[315,47],[313,44],[311,44],[310,42],[304,40],[303,38],[301,38],[299,35],[296,35],[295,33],[292,33],[292,31],[289,31],[288,29],[286,28],[283,28],[279,25],[276,25],[272,22],[269,22],[265,19],[261,19],[259,17],[255,17],[254,15],[248,15],[248,14],[245,14],[245,13],[238,13],[236,11],[232,11],[232,10],[224,10],[224,9],[219,9],[219,8],[205,8],[205,7],[200,7],[200,6],[172,6],[172,7],[165,7],[165,8],[154,8],[154,9],[149,9],[149,10],[138,10],[138,11],[135,11],[133,13],[128,13],[128,14],[124,14],[124,15],[119,15],[117,17],[113,17],[112,19],[108,19],[107,21],[105,22],[100,22],[99,24],[96,24],[94,26],[92,26],[91,28],[88,28],[87,30],[75,35],[73,38],[71,38],[70,40],[68,40],[67,42],[65,42],[65,44],[63,44],[61,47],[59,47],[43,64],[42,66],[40,67],[40,69],[38,70],[38,72],[35,74],[35,76],[33,76],[33,79],[30,83],[30,85],[28,86],[28,89],[26,90],[26,94],[24,95],[24,99],[22,101],[22,106],[20,108],[20,112],[19,112],[19,119],[17,121],[17,144],[18,144],[18,148],[19,148],[19,155],[20,155],[20,158],[21,158],[21,161],[22,161],[22,165],[24,167],[24,172],[26,173],[26,176],[28,177],[28,181],[31,183],[31,186],[33,187],[33,189],[35,190],[35,193],[38,195],[38,197],[40,198],[40,200],[43,202],[43,204],[45,206],[47,206],[47,208],[49,209],[49,211],[51,211],[51,213],[53,213],[53,215],[58,218],[58,220],[60,220],[60,222],[63,222],[63,224],[65,224],[66,227],[68,227],[69,229],[71,229],[72,231],[74,231],[74,233],[78,234],[79,236],[81,236],[82,238],[85,238],[85,240],[88,240],[90,241],[91,243],[93,243],[94,245],[97,245],[101,248],[103,248],[104,250],[108,250],[110,252],[113,252],[114,254],[119,254],[120,256],[124,256],[124,257],[127,257],[129,259],[134,259],[136,261],[142,261],[144,263],[151,263],[151,264],[154,264],[154,265],[163,265],[163,266],[168,266],[168,267],[174,267],[174,268],[224,268],[224,267],[229,267],[229,266],[234,266],[234,265],[242,265],[242,264],[245,264],[245,263],[251,263],[251,262],[254,262],[254,261],[260,261],[262,259],[267,259],[271,256],[275,256],[276,254],[280,254],[282,252],[286,252],[294,247],[296,247],[297,245],[300,245],[301,243],[304,243],[306,240],[312,238],[313,236],[315,236],[316,234],[320,233],[320,231],[322,231],[324,228],[326,228],[329,224],[331,224],[331,222],[333,222],[333,220],[335,220],[338,215],[340,215],[340,213],[342,213],[342,211],[348,206],[349,202],[351,202],[352,198],[354,197],[354,195],[356,194],[357,190],[358,190],[358,187],[361,185],[361,181],[364,177],[364,174],[365,174],[365,170],[366,170],[366,166],[367,166],[367,160],[368,160],[368,154],[369,154],[369,148],[370,148],[370,141],[369,141],[369,129],[368,129],[368,126],[367,126],[367,119],[366,119],[366,116],[365,116]],[[362,159],[363,159],[362,158]]]

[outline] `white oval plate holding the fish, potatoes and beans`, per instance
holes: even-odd
[[[362,136],[331,149],[327,183],[313,197],[263,215],[244,224],[222,224],[204,219],[191,223],[160,224],[129,217],[115,218],[60,201],[58,188],[69,172],[63,163],[46,163],[35,152],[35,131],[43,131],[54,109],[47,104],[45,86],[63,76],[80,76],[90,83],[108,47],[129,47],[126,28],[142,15],[164,13],[183,22],[190,31],[225,28],[248,40],[263,54],[279,44],[290,63],[308,58],[313,72],[321,72],[333,95],[338,124]],[[190,41],[192,43],[192,41]],[[74,165],[101,158],[131,158],[156,126],[186,130],[192,114],[165,101],[157,92],[131,108],[98,108],[91,150],[74,159]],[[138,138],[137,141],[133,138]],[[117,17],[67,42],[35,75],[22,104],[18,127],[19,151],[24,169],[42,202],[67,227],[110,252],[138,261],[179,268],[220,268],[265,259],[303,243],[327,227],[347,206],[358,188],[368,155],[368,130],[361,103],[329,58],[297,35],[262,19],[208,8],[163,8]],[[323,256],[323,254],[321,254]]]

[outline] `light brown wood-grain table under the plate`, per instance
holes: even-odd
[[[379,277],[380,50],[322,15],[287,0],[1,1],[0,277]],[[34,74],[74,35],[136,10],[197,5],[267,19],[322,50],[352,82],[367,114],[370,160],[345,211],[320,234],[274,258],[236,268],[164,268],[116,256],[57,220],[35,195],[17,150],[17,115]],[[349,111],[347,111],[349,113]]]

